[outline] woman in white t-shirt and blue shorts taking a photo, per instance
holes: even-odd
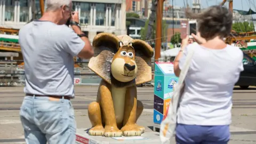
[[[230,138],[232,95],[239,74],[243,71],[243,52],[226,44],[233,14],[226,7],[211,6],[203,13],[187,11],[188,18],[196,19],[198,35],[192,34],[198,44],[182,47],[174,61],[176,76],[190,50],[194,50],[185,89],[177,112],[176,141],[179,144],[228,143]]]

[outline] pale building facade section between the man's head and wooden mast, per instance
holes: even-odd
[[[108,32],[126,34],[125,0],[76,0],[73,10],[78,11],[82,30],[92,42],[95,35]]]

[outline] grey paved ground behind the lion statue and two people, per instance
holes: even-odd
[[[73,106],[77,127],[91,126],[87,116],[87,106],[94,101],[97,86],[76,86],[76,99]],[[139,124],[152,131],[154,89],[138,87],[138,99],[145,105]],[[24,97],[23,87],[0,87],[0,143],[24,143],[23,131],[19,120],[19,107]],[[231,124],[231,144],[256,143],[256,89],[234,90],[233,123]]]

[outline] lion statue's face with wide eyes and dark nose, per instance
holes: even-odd
[[[135,62],[135,51],[132,43],[123,45],[120,42],[119,45],[120,48],[111,63],[111,74],[119,82],[130,82],[138,73],[138,67]]]

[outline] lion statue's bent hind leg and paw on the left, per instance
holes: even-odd
[[[91,102],[89,104],[88,115],[92,124],[92,128],[89,130],[89,135],[102,136],[104,128],[101,122],[101,111],[98,102]]]

